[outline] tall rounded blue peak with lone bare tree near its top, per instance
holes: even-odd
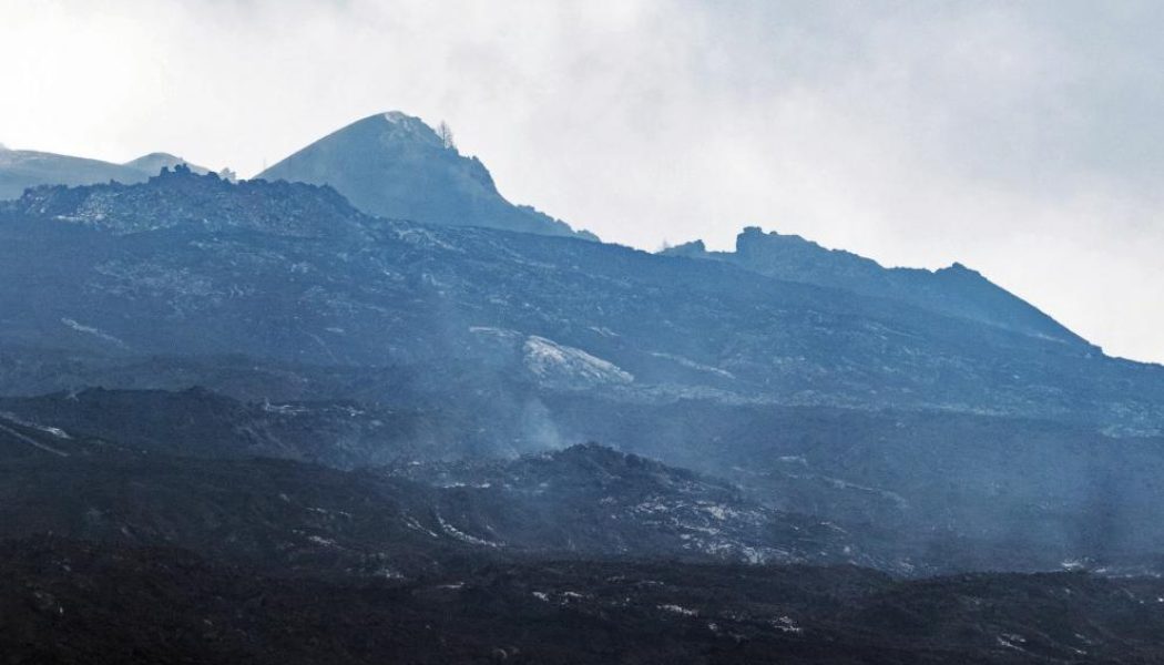
[[[360,210],[390,219],[594,239],[509,203],[480,160],[396,111],[348,125],[256,177],[331,185]]]

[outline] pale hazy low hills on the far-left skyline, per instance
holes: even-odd
[[[114,164],[52,153],[9,150],[0,146],[0,200],[17,198],[26,189],[38,185],[140,183],[156,176],[163,167],[185,163],[166,153],[152,153],[125,164]],[[201,167],[192,168],[200,174],[207,172]]]

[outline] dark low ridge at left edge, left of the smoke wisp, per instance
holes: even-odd
[[[439,424],[416,410],[324,401],[246,403],[201,388],[173,392],[94,388],[0,397],[0,433],[6,416],[24,424],[16,429],[31,427],[33,432],[26,433],[33,434],[42,450],[48,446],[65,452],[80,445],[81,450],[97,446],[212,459],[268,457],[342,469],[445,453],[433,440]],[[44,439],[45,433],[55,432],[71,436]],[[24,444],[36,447],[27,440]]]

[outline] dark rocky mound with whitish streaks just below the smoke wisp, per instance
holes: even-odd
[[[920,570],[908,556],[866,549],[863,533],[766,508],[722,480],[597,444],[509,461],[410,462],[391,474],[443,488],[445,518],[468,524],[470,542],[502,549]]]

